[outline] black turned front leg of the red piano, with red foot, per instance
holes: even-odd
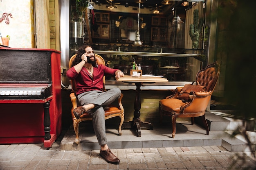
[[[44,140],[44,147],[45,148],[50,148],[52,147],[52,144],[56,140],[56,135],[50,134],[51,131],[51,120],[50,120],[50,113],[49,113],[49,108],[50,108],[50,101],[45,102],[44,104],[44,126],[45,126],[45,140]]]

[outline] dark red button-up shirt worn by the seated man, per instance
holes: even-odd
[[[74,67],[67,70],[67,77],[74,79],[76,82],[77,92],[76,95],[83,92],[88,92],[92,90],[103,91],[103,76],[115,76],[115,72],[118,69],[108,68],[105,65],[99,65],[98,68],[93,68],[93,78],[90,76],[86,68],[77,73]]]

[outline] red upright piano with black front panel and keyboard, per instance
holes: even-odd
[[[44,143],[61,133],[61,52],[0,48],[0,144]]]

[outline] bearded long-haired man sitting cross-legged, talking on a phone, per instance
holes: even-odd
[[[112,154],[107,145],[104,106],[109,105],[121,95],[117,87],[103,92],[103,76],[122,77],[124,73],[118,69],[97,65],[91,46],[81,46],[77,51],[72,68],[67,70],[67,77],[74,79],[77,87],[77,99],[80,107],[74,109],[77,119],[87,112],[92,115],[92,124],[101,146],[100,156],[109,163],[120,160]]]

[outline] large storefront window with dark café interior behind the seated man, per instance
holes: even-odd
[[[88,44],[109,67],[127,75],[135,61],[143,74],[164,76],[169,81],[192,81],[207,61],[203,48],[205,1],[161,2],[153,8],[152,4],[141,3],[138,22],[138,3],[125,7],[123,1],[115,0],[117,8],[110,10],[108,2],[93,1],[94,9],[88,14],[90,25],[82,23],[85,31],[75,30],[75,23],[70,22],[70,56],[78,46]],[[160,12],[153,13],[155,9]],[[141,46],[133,45],[138,27]]]

